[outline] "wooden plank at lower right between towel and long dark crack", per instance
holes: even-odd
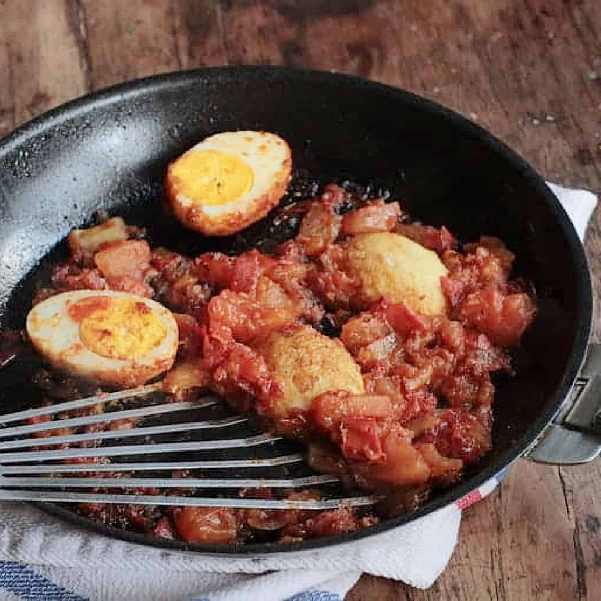
[[[464,512],[459,545],[432,588],[364,577],[347,601],[573,599],[573,531],[557,468],[519,462],[495,493]]]

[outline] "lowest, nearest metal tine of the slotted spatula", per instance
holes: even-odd
[[[100,493],[77,493],[47,490],[0,489],[0,499],[13,501],[55,501],[72,503],[126,503],[135,505],[175,505],[177,507],[233,507],[240,509],[300,509],[323,510],[339,507],[362,507],[374,505],[375,496],[322,499],[320,501],[296,501],[293,499],[240,499],[203,498],[197,496],[168,495],[102,495]]]

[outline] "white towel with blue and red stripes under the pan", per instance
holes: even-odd
[[[597,198],[549,187],[582,239]],[[2,502],[0,601],[340,601],[363,572],[427,588],[453,553],[462,510],[492,492],[503,475],[392,531],[336,549],[261,558],[161,551]]]

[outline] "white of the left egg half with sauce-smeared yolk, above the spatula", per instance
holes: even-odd
[[[90,350],[80,336],[80,323],[69,305],[90,297],[108,296],[143,303],[165,328],[157,346],[138,358],[111,358]],[[114,386],[138,386],[171,368],[178,329],[171,311],[150,299],[112,290],[74,290],[50,296],[29,311],[26,331],[38,352],[59,370]]]

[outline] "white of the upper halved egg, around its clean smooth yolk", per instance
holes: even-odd
[[[216,133],[182,156],[206,150],[230,154],[246,163],[252,171],[252,184],[245,194],[230,203],[204,204],[200,198],[177,192],[169,182],[168,172],[169,200],[175,216],[186,227],[209,235],[231,234],[263,218],[284,195],[290,182],[292,161],[290,147],[278,135],[254,131]],[[195,218],[189,215],[191,209],[197,213]],[[227,222],[234,217],[239,224],[235,230]]]

